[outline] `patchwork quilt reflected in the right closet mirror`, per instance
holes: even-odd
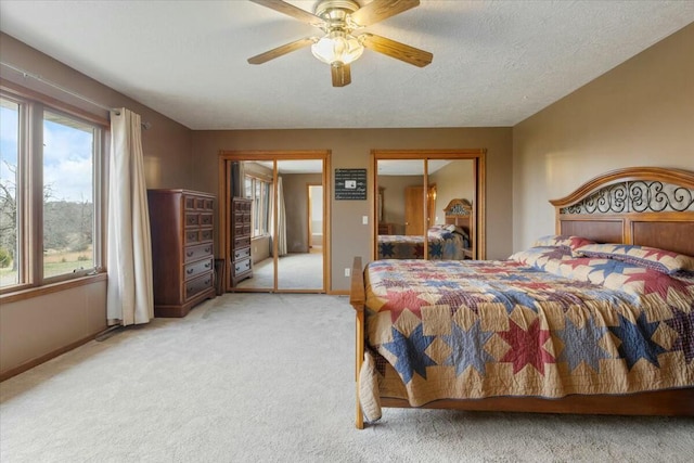
[[[462,260],[463,249],[470,247],[466,234],[454,226],[434,226],[428,230],[429,259]],[[424,236],[378,235],[380,259],[423,259]]]

